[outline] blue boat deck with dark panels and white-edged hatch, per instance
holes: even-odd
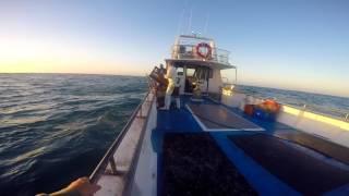
[[[158,195],[349,194],[348,148],[206,98],[181,100],[158,111],[151,136]]]

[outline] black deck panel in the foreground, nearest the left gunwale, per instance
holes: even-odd
[[[167,133],[158,195],[257,195],[208,133]]]

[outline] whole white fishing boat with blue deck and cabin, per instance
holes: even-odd
[[[160,69],[91,175],[96,195],[349,195],[349,122],[225,83],[214,39],[180,35],[180,107],[160,110]],[[173,99],[174,100],[174,99]]]

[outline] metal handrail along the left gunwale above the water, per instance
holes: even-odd
[[[103,172],[100,171],[101,169],[105,169],[108,166],[108,161],[109,158],[111,156],[115,155],[116,150],[119,148],[125,133],[128,132],[128,130],[130,128],[130,126],[132,125],[133,120],[137,117],[139,111],[141,110],[141,108],[143,107],[143,103],[146,101],[147,97],[149,95],[149,91],[145,95],[145,97],[143,98],[143,100],[141,101],[141,103],[136,107],[136,109],[133,111],[132,115],[130,117],[128,123],[123,126],[122,131],[119,133],[119,135],[117,136],[117,138],[112,142],[111,146],[109,147],[109,149],[107,150],[107,152],[105,154],[105,156],[101,158],[101,160],[99,161],[99,163],[97,164],[97,167],[95,168],[95,170],[92,172],[92,174],[89,175],[89,181],[92,183],[96,183],[97,181],[97,176]]]

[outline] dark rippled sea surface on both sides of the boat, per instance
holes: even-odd
[[[349,98],[238,86],[337,118]],[[49,193],[89,175],[147,90],[145,77],[0,74],[0,195]]]

